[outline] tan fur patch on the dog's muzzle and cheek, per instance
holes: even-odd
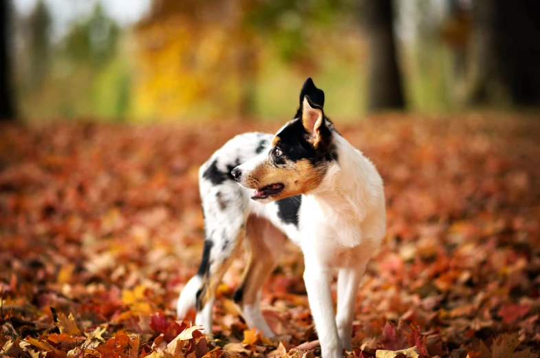
[[[252,189],[261,189],[268,185],[282,183],[285,189],[272,196],[272,200],[279,200],[309,193],[321,184],[326,170],[326,165],[314,167],[307,159],[290,162],[284,167],[275,167],[269,160],[265,160],[246,176],[243,185]]]

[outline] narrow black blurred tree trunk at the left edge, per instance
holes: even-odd
[[[8,0],[0,1],[0,121],[12,120],[15,116],[10,66],[10,17]]]

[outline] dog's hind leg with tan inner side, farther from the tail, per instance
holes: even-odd
[[[259,299],[261,286],[274,269],[277,259],[283,253],[287,238],[270,222],[254,215],[250,216],[246,225],[246,250],[248,265],[242,275],[239,288],[234,299],[241,306],[242,314],[250,327],[255,327],[267,337],[274,333],[268,327],[261,309]]]

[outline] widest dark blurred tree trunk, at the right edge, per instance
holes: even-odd
[[[472,105],[540,105],[540,6],[537,0],[473,2]]]

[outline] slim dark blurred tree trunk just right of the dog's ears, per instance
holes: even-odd
[[[364,25],[369,45],[369,111],[403,109],[402,78],[396,59],[392,0],[364,0]]]

